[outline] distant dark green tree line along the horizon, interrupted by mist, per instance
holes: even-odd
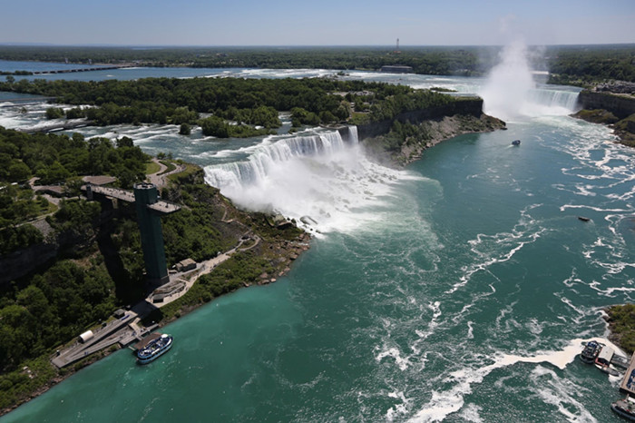
[[[549,70],[551,82],[584,83],[617,79],[635,82],[635,44],[549,45],[530,47],[532,67]],[[486,74],[498,63],[500,46],[366,47],[126,47],[0,46],[5,60],[37,60],[73,64],[144,66],[246,67],[271,69],[377,70],[383,65],[411,66],[416,74]],[[15,73],[18,74],[18,73]]]

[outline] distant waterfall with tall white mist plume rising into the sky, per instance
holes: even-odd
[[[493,67],[479,92],[485,113],[510,120],[573,112],[578,93],[536,84],[529,58],[530,52],[521,42],[503,48],[500,63]]]

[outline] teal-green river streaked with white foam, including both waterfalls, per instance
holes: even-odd
[[[123,349],[0,421],[620,421],[620,379],[575,355],[606,335],[602,308],[635,295],[635,150],[568,117],[564,87],[505,103],[495,73],[348,77],[483,93],[509,130],[396,171],[335,133],[83,129],[197,162],[239,204],[311,216],[316,237],[287,277],[166,327],[175,345],[151,365]],[[2,107],[0,124],[43,111]]]

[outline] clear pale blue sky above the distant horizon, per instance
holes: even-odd
[[[0,0],[0,44],[635,43],[635,0]]]

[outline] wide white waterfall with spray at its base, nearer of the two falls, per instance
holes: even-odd
[[[382,219],[391,185],[407,175],[366,159],[351,127],[271,137],[247,160],[205,168],[206,181],[239,207],[300,219],[321,232],[350,231]]]

